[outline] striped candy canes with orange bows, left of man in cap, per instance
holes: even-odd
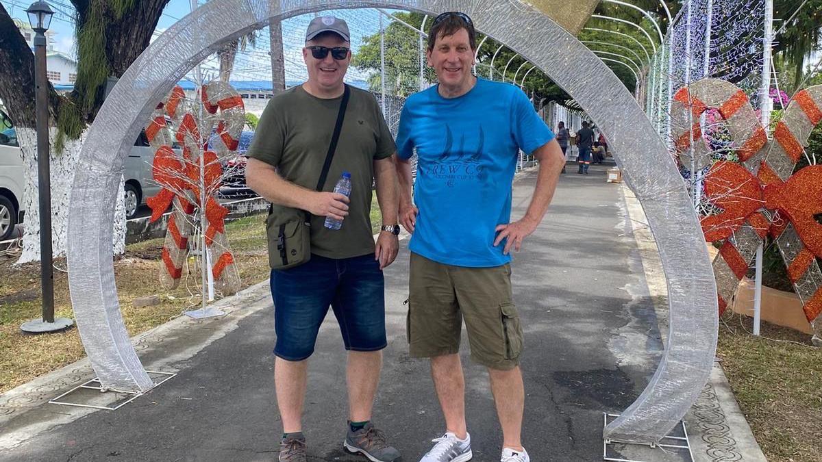
[[[213,84],[212,84],[213,85]],[[211,86],[211,85],[209,85]],[[225,84],[215,85],[222,88],[222,94],[229,94],[229,98],[217,99],[215,106],[226,108],[219,115],[205,97],[203,87],[202,102],[207,115],[204,120],[198,120],[195,110],[182,110],[181,102],[184,94],[182,89],[175,87],[169,100],[158,105],[153,114],[150,127],[146,129],[152,146],[157,148],[154,160],[154,177],[164,188],[157,196],[147,200],[152,209],[151,221],[159,219],[173,205],[172,216],[169,219],[169,228],[163,247],[163,265],[161,265],[160,280],[164,286],[177,287],[182,276],[182,266],[187,257],[188,238],[192,236],[192,213],[195,206],[201,207],[203,214],[202,224],[205,233],[205,245],[214,256],[211,270],[216,282],[221,284],[224,293],[236,292],[240,287],[240,280],[236,266],[234,266],[228,239],[225,238],[224,219],[229,210],[221,206],[215,199],[219,190],[222,168],[219,158],[214,151],[206,150],[207,137],[201,133],[209,133],[215,122],[223,127],[220,135],[224,140],[224,153],[230,154],[229,147],[236,149],[237,143],[231,143],[230,136],[235,132],[234,127],[237,113],[244,121],[242,113],[242,99],[239,104],[231,99],[236,92],[225,90]],[[230,89],[230,86],[228,87]],[[231,95],[233,92],[233,95]],[[237,95],[237,98],[239,96]],[[192,108],[193,109],[193,108]],[[230,110],[230,112],[229,112]],[[171,133],[165,116],[168,115],[174,123],[176,139],[183,146],[182,155],[171,149]],[[223,116],[226,116],[225,118]],[[238,128],[242,132],[242,125]],[[219,132],[219,131],[218,131]],[[238,139],[238,135],[237,135]],[[228,140],[228,141],[226,141]]]

